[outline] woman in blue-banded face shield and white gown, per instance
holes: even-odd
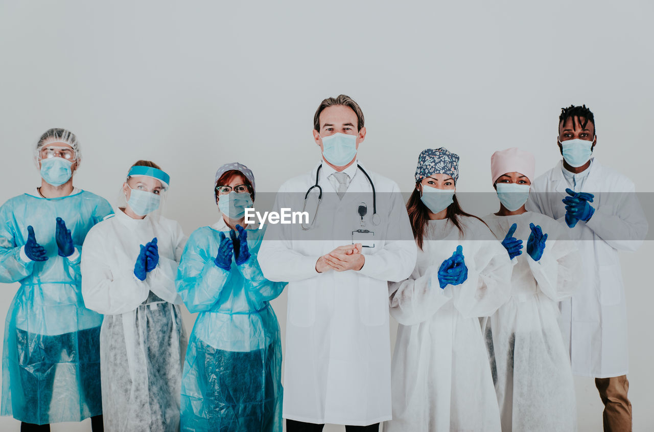
[[[122,187],[125,206],[84,243],[84,302],[105,315],[100,358],[108,431],[179,431],[186,333],[175,274],[186,236],[157,211],[169,183],[153,162],[136,162]]]

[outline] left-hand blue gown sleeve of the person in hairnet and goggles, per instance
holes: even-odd
[[[0,282],[18,282],[31,275],[33,261],[23,261],[20,251],[23,244],[16,243],[15,227],[12,226],[13,211],[7,203],[0,207]],[[26,227],[27,232],[27,227]],[[20,243],[24,241],[19,240]]]

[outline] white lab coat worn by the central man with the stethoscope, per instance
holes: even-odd
[[[301,210],[317,168],[286,181],[275,208]],[[393,181],[368,172],[381,217],[373,226],[372,189],[364,173],[356,171],[342,200],[322,174],[315,226],[304,231],[300,224],[269,225],[258,254],[267,279],[288,281],[283,416],[310,423],[383,422],[391,416],[387,281],[411,274],[415,242]],[[360,202],[368,206],[365,228],[375,232],[375,247],[363,250],[363,268],[317,273],[318,258],[351,244],[352,231],[362,228]],[[311,221],[312,197],[307,210]]]

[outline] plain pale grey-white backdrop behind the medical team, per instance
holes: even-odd
[[[542,173],[560,158],[560,107],[585,103],[596,157],[654,191],[651,1],[443,3],[1,0],[0,202],[39,184],[39,135],[69,128],[84,153],[75,185],[113,203],[128,167],[154,160],[171,175],[165,214],[190,234],[218,217],[220,164],[247,164],[258,192],[308,171],[313,113],[341,93],[366,115],[362,162],[403,190],[426,147],[461,155],[464,192],[492,191],[490,154],[506,147],[532,151]],[[621,255],[636,431],[654,425],[653,253]],[[1,286],[0,315],[17,287]],[[286,294],[273,306],[284,332]],[[576,384],[579,429],[601,430],[593,380]]]

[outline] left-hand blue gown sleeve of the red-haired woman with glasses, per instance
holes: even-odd
[[[206,229],[200,228],[191,234],[177,267],[177,292],[192,314],[211,310],[230,280],[234,267],[232,264],[232,270],[228,272],[216,266],[209,248],[212,237]]]

